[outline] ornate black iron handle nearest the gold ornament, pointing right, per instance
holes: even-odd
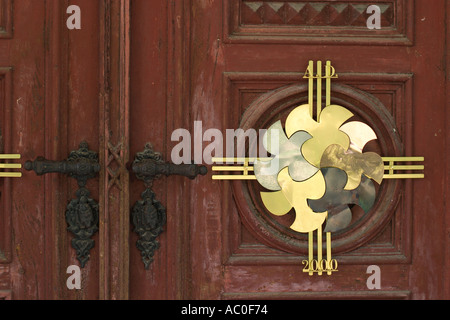
[[[153,151],[151,144],[147,144],[143,152],[136,154],[132,170],[146,186],[146,190],[142,193],[142,200],[137,201],[133,206],[131,219],[135,227],[134,231],[139,235],[136,247],[141,251],[142,261],[145,269],[148,270],[155,250],[159,248],[156,238],[163,232],[166,224],[166,209],[156,200],[155,193],[151,189],[153,180],[161,175],[181,175],[195,179],[199,174],[206,175],[208,170],[205,166],[195,164],[165,163],[161,153]]]

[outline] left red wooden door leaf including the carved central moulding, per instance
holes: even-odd
[[[22,178],[2,180],[1,186],[0,297],[125,299],[129,183],[123,110],[128,82],[121,66],[128,64],[112,62],[125,56],[119,49],[126,46],[123,37],[119,41],[123,3],[0,4],[1,153],[20,154],[16,162],[22,164]],[[80,10],[81,29],[68,27],[75,13],[70,5]],[[83,141],[104,169],[86,185],[98,203],[99,230],[81,269],[82,289],[76,290],[67,286],[69,267],[80,262],[66,210],[76,198],[77,181],[57,173],[37,176],[24,167],[41,156],[65,160]]]

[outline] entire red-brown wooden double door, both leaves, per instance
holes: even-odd
[[[66,26],[72,4],[80,30]],[[366,25],[372,4],[380,30]],[[65,221],[76,181],[25,170],[0,180],[0,299],[450,296],[446,1],[0,6],[0,153],[21,154],[22,164],[62,160],[86,141],[101,168],[87,183],[99,230],[79,290],[66,285],[79,263]],[[195,121],[203,132],[267,128],[307,101],[309,60],[332,61],[332,101],[376,129],[370,149],[424,156],[425,179],[384,181],[373,210],[333,238],[339,271],[319,277],[302,271],[307,238],[289,230],[292,214],[274,219],[254,181],[214,181],[211,170],[192,181],[162,177],[152,189],[167,222],[146,270],[130,221],[145,190],[130,173],[135,155],[151,143],[171,161],[172,133],[194,136]],[[370,265],[380,268],[379,290],[366,285]]]

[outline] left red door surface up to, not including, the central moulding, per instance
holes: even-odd
[[[99,237],[83,269],[84,290],[66,286],[78,265],[66,206],[76,197],[74,179],[43,177],[25,170],[27,160],[68,158],[86,141],[99,150],[99,6],[86,8],[85,30],[69,33],[64,1],[0,1],[0,153],[20,154],[22,177],[2,178],[0,210],[0,298],[96,299],[99,296]],[[91,31],[89,31],[91,30]],[[99,200],[98,178],[89,180]]]

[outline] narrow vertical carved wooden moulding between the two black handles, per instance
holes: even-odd
[[[100,3],[99,296],[129,297],[130,0]]]

